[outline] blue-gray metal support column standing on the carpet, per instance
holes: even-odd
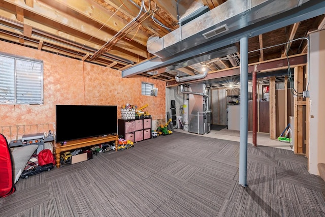
[[[248,37],[240,39],[239,184],[247,187]]]

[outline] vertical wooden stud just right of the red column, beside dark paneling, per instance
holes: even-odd
[[[270,139],[276,139],[275,77],[270,77]]]

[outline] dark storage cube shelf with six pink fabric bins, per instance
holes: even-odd
[[[118,135],[125,140],[140,142],[151,138],[151,118],[118,119]]]

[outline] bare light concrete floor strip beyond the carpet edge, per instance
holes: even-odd
[[[183,129],[174,129],[174,132],[194,134],[194,133],[185,131]],[[234,130],[228,130],[228,129],[222,129],[219,131],[211,130],[210,133],[196,134],[196,135],[217,138],[217,139],[225,139],[225,140],[230,140],[230,141],[237,141],[237,142],[240,141],[240,132],[234,131]],[[248,137],[247,138],[248,145],[252,145],[252,132],[248,132],[247,137]],[[276,140],[270,139],[269,133],[257,133],[256,134],[256,143],[257,143],[257,145],[293,150],[292,147],[290,146],[290,143],[288,143],[288,142],[280,142],[277,139]]]

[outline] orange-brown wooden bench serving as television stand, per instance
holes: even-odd
[[[69,151],[77,148],[88,147],[91,145],[98,145],[106,142],[115,142],[115,151],[117,151],[118,136],[115,135],[72,140],[72,141],[68,141],[67,144],[64,145],[61,145],[61,143],[54,143],[56,167],[60,168],[60,153],[62,151]]]

